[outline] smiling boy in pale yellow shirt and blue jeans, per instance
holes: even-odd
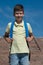
[[[14,8],[15,23],[13,25],[13,38],[9,38],[9,31],[11,23],[8,23],[5,32],[5,39],[8,43],[12,43],[10,51],[10,65],[30,65],[29,63],[29,48],[27,42],[33,39],[32,29],[27,23],[29,37],[26,38],[24,27],[24,8],[22,5],[17,4]],[[27,41],[27,42],[26,42]]]

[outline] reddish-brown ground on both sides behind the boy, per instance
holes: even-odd
[[[29,43],[31,50],[30,65],[43,65],[43,38],[37,38],[37,42],[41,51],[33,40]],[[9,65],[9,47],[3,38],[0,38],[0,65]]]

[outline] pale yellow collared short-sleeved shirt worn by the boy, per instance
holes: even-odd
[[[29,23],[27,23],[29,33],[32,33],[32,28]],[[6,28],[6,32],[10,31],[11,23],[8,23]],[[26,33],[24,27],[24,21],[22,23],[13,26],[13,42],[11,47],[11,54],[13,53],[29,53],[29,48],[27,46],[27,42],[25,40]]]

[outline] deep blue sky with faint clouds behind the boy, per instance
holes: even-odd
[[[14,21],[13,8],[24,6],[24,15],[30,23],[35,37],[43,37],[43,0],[0,0],[0,36],[3,37],[7,24]]]

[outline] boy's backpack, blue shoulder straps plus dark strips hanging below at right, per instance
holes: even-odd
[[[11,28],[10,28],[10,33],[9,33],[9,37],[12,38],[13,37],[13,25],[14,25],[14,21],[11,23]],[[25,27],[25,32],[26,32],[26,38],[29,37],[29,31],[28,31],[28,26],[27,26],[27,23],[26,21],[24,20],[24,27]],[[27,46],[29,48],[29,45],[28,45],[28,42],[27,42]],[[11,48],[10,48],[11,49]],[[31,55],[31,52],[29,51],[29,60],[30,60],[30,55]]]

